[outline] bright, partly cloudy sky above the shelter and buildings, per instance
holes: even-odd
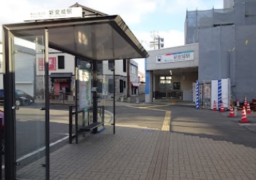
[[[223,0],[8,0],[1,2],[0,25],[21,23],[34,10],[67,8],[76,2],[108,15],[120,15],[146,50],[154,50],[150,42],[157,35],[164,38],[164,48],[184,45],[187,11],[223,8]],[[144,60],[136,62],[139,70],[145,71]]]

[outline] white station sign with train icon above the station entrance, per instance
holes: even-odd
[[[194,51],[157,55],[157,63],[175,63],[187,60],[194,60]]]

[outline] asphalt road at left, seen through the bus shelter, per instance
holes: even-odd
[[[15,118],[15,153],[21,168],[45,155],[45,112],[37,104],[20,106]],[[68,106],[50,106],[50,144],[54,144],[50,146],[51,152],[68,143],[68,133]]]

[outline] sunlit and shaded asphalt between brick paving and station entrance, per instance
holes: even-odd
[[[230,141],[256,148],[256,114],[248,114],[251,123],[241,124],[241,111],[237,117],[228,117],[228,111],[221,113],[194,106],[172,104],[116,107],[117,125],[138,125],[161,129],[167,111],[170,113],[170,131],[189,136]],[[144,122],[146,120],[146,122]]]

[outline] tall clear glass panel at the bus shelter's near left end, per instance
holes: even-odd
[[[44,36],[12,42],[15,179],[45,179]]]

